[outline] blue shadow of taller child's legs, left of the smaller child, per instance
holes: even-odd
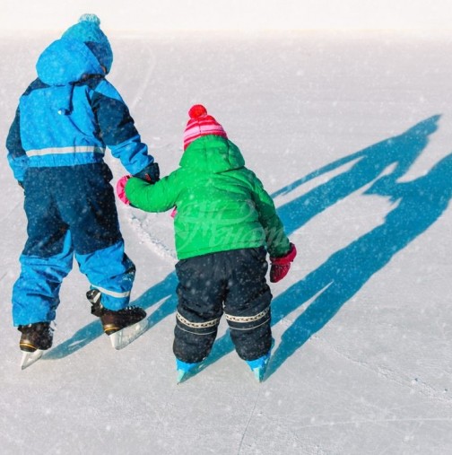
[[[155,284],[131,304],[148,309],[152,305],[161,302],[160,307],[148,316],[148,328],[156,325],[162,319],[165,319],[175,311],[177,305],[177,296],[175,293],[178,279],[175,272],[171,272],[161,283]],[[86,308],[89,309],[89,304]],[[54,360],[61,359],[67,355],[74,354],[75,351],[82,349],[98,337],[104,336],[100,320],[98,318],[74,333],[72,337],[65,342],[54,347],[48,353],[44,354],[43,359]]]

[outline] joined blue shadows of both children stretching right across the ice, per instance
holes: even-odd
[[[288,231],[293,232],[327,206],[378,178],[387,166],[396,164],[391,174],[377,179],[367,191],[368,194],[391,197],[393,202],[397,202],[395,209],[387,214],[386,222],[335,252],[317,270],[274,299],[272,325],[317,295],[307,310],[283,333],[269,364],[268,375],[275,372],[312,334],[323,328],[373,274],[385,267],[397,251],[427,230],[447,208],[452,188],[451,154],[425,176],[407,183],[396,182],[422,152],[428,143],[428,136],[437,129],[438,119],[439,116],[428,118],[401,136],[326,166],[323,170],[330,171],[361,157],[349,171],[278,210],[284,225],[289,226]],[[310,175],[321,173],[319,170]],[[303,181],[307,179],[300,179],[297,185],[286,187],[284,191],[290,191]],[[215,343],[206,366],[232,349],[227,334]]]

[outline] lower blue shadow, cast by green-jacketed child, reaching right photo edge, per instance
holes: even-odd
[[[391,197],[395,209],[387,214],[385,223],[335,252],[317,270],[274,300],[273,321],[277,323],[316,296],[283,333],[269,374],[323,328],[395,253],[438,220],[452,197],[452,153],[418,179],[396,183],[392,176],[383,177],[367,193]]]

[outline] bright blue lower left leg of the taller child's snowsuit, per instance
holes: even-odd
[[[55,249],[55,245],[52,245]],[[26,326],[50,322],[56,318],[59,291],[65,276],[73,267],[73,246],[66,232],[61,250],[52,256],[39,257],[22,253],[21,275],[13,285],[13,324]],[[38,251],[36,251],[38,252]]]

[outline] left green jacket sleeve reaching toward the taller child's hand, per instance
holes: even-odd
[[[132,178],[126,183],[126,197],[132,206],[145,212],[166,212],[176,206],[178,198],[178,171],[156,183]]]

